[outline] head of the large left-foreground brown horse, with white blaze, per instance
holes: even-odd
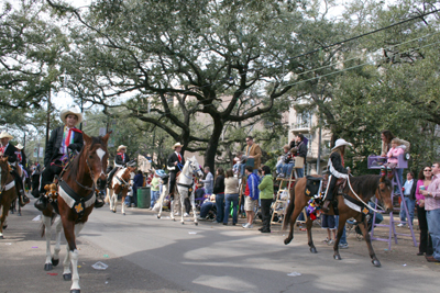
[[[110,133],[103,137],[90,137],[82,134],[84,142],[86,143],[84,150],[86,156],[87,166],[90,169],[91,179],[99,190],[106,188],[106,169],[109,151],[107,150],[107,142],[109,140]]]

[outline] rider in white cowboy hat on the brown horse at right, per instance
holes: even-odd
[[[352,144],[345,142],[343,138],[339,138],[334,143],[334,147],[331,149],[329,162],[327,165],[327,168],[330,171],[330,183],[326,190],[326,202],[322,206],[323,212],[329,212],[329,204],[338,193],[338,190],[336,189],[338,179],[349,178],[349,170],[344,168],[345,146],[352,146]]]

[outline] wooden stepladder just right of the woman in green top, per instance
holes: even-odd
[[[272,203],[272,217],[271,217],[271,224],[276,224],[279,223],[279,221],[274,222],[275,215],[279,218],[282,217],[282,226],[284,225],[284,221],[285,221],[285,215],[286,215],[286,210],[287,210],[287,205],[289,202],[289,198],[290,198],[290,193],[289,190],[292,188],[294,188],[295,182],[298,178],[298,174],[296,172],[296,169],[298,169],[299,167],[295,167],[292,168],[290,171],[290,176],[288,178],[277,178],[276,180],[279,181],[279,188],[278,191],[276,193],[276,198],[275,198],[275,202]],[[302,168],[302,166],[300,167]],[[287,183],[285,187],[284,184]],[[284,192],[287,192],[287,196],[285,196],[284,199],[282,199],[282,194]],[[307,218],[307,217],[306,217]]]

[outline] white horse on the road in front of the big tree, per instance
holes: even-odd
[[[184,168],[180,171],[180,174],[176,178],[176,187],[180,198],[180,216],[182,216],[180,223],[185,224],[184,222],[185,199],[190,196],[189,200],[193,207],[194,224],[197,226],[198,222],[196,215],[196,204],[194,201],[194,193],[196,189],[193,176],[196,176],[198,178],[204,176],[204,172],[200,169],[196,156],[193,156],[193,158],[188,158],[186,160]],[[176,194],[176,192],[174,194]],[[176,221],[174,218],[174,204],[172,204],[170,217],[173,221]]]

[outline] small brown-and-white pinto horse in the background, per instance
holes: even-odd
[[[134,178],[134,171],[136,167],[127,167],[120,169],[113,176],[110,187],[107,189],[108,201],[110,201],[110,211],[117,212],[118,204],[118,195],[122,195],[122,210],[121,213],[125,215],[125,205],[124,201],[127,198],[127,193],[129,192],[129,188],[132,185],[132,180]],[[135,196],[136,194],[133,194]],[[106,198],[107,198],[106,196]]]

